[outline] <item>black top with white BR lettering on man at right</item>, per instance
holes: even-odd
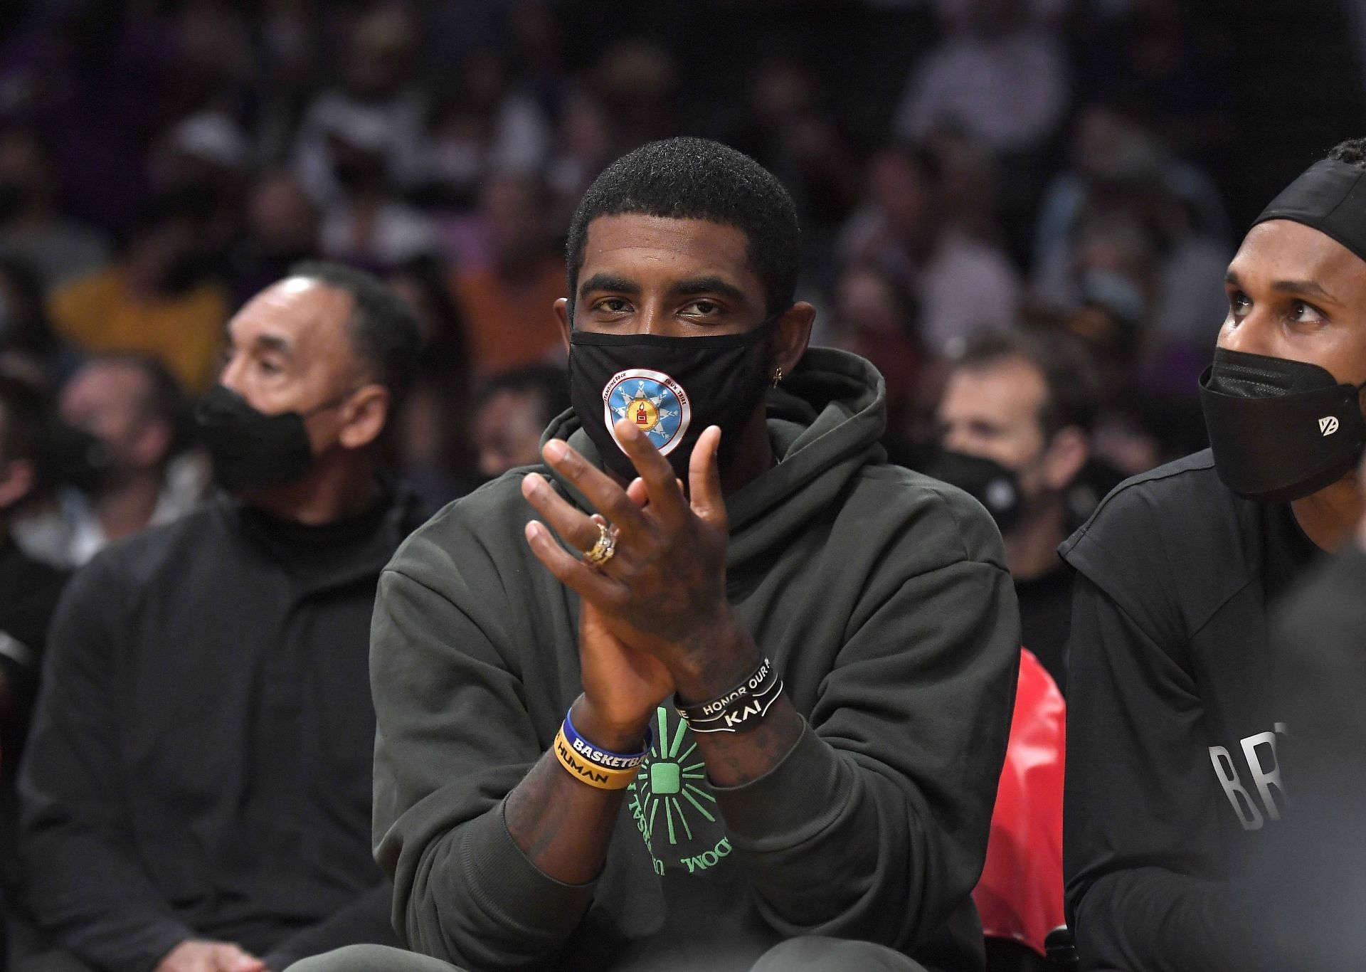
[[[1064,872],[1082,968],[1243,969],[1233,879],[1288,809],[1268,604],[1314,556],[1209,451],[1123,483],[1075,567]]]

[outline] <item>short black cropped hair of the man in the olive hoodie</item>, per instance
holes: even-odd
[[[764,283],[768,313],[792,306],[799,232],[796,205],[783,183],[743,152],[720,142],[667,138],[622,156],[583,193],[564,247],[571,316],[589,224],[598,216],[624,215],[735,227],[749,241],[750,267]]]

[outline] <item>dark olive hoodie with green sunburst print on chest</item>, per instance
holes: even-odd
[[[769,392],[780,461],[727,498],[728,596],[783,671],[800,740],[765,777],[713,787],[665,703],[590,885],[541,874],[503,820],[582,690],[578,596],[522,533],[530,470],[399,550],[372,627],[374,827],[411,949],[477,972],[727,972],[820,934],[981,968],[968,895],[1019,617],[985,510],[885,465],[884,394],[862,358],[807,351]],[[572,413],[546,436],[597,459]]]

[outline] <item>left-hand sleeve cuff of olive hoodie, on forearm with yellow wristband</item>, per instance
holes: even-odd
[[[510,928],[568,935],[583,917],[597,880],[566,885],[537,868],[508,833],[504,808],[500,804],[497,812],[485,813],[464,828],[469,886],[478,908]]]

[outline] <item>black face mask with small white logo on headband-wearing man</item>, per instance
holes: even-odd
[[[1199,401],[1218,478],[1264,503],[1336,483],[1366,444],[1358,391],[1318,365],[1214,349]]]

